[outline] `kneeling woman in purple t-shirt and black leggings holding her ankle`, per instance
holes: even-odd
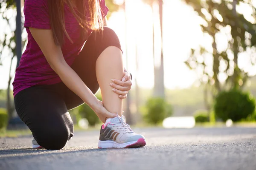
[[[73,137],[68,110],[84,102],[105,123],[99,148],[145,146],[122,116],[131,89],[105,0],[26,0],[28,45],[16,70],[14,101],[34,148],[58,150]],[[103,27],[104,26],[104,27]],[[101,89],[103,102],[94,95]]]

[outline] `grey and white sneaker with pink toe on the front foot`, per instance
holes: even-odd
[[[100,129],[99,148],[130,148],[145,145],[145,137],[131,130],[125,123],[125,116],[107,119]]]

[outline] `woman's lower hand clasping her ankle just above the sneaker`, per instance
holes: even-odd
[[[102,123],[105,123],[106,118],[113,118],[117,116],[116,113],[110,113],[109,111],[107,111],[107,109],[103,106],[103,102],[100,100],[96,103],[96,105],[93,105],[91,108],[102,121]]]

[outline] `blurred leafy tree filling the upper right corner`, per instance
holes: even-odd
[[[196,14],[201,18],[201,29],[204,35],[212,38],[212,49],[201,46],[191,50],[191,56],[186,61],[189,68],[199,72],[199,80],[206,86],[206,91],[211,91],[215,96],[220,91],[227,89],[242,89],[250,77],[247,69],[239,68],[240,54],[246,54],[250,58],[250,64],[256,64],[256,27],[255,21],[248,20],[243,14],[239,14],[236,7],[246,4],[252,9],[252,17],[256,17],[256,10],[250,0],[186,0],[192,6]],[[224,29],[226,33],[227,48],[218,48],[218,35]],[[209,64],[212,60],[213,64]],[[220,82],[220,75],[226,76],[224,82]],[[207,94],[207,92],[205,93]],[[207,100],[207,95],[205,95]],[[208,103],[209,108],[209,103]]]

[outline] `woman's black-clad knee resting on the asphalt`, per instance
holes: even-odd
[[[35,135],[35,139],[40,146],[47,150],[60,150],[67,144],[67,141],[70,139],[70,133],[66,127],[57,129],[47,128],[39,135]]]

